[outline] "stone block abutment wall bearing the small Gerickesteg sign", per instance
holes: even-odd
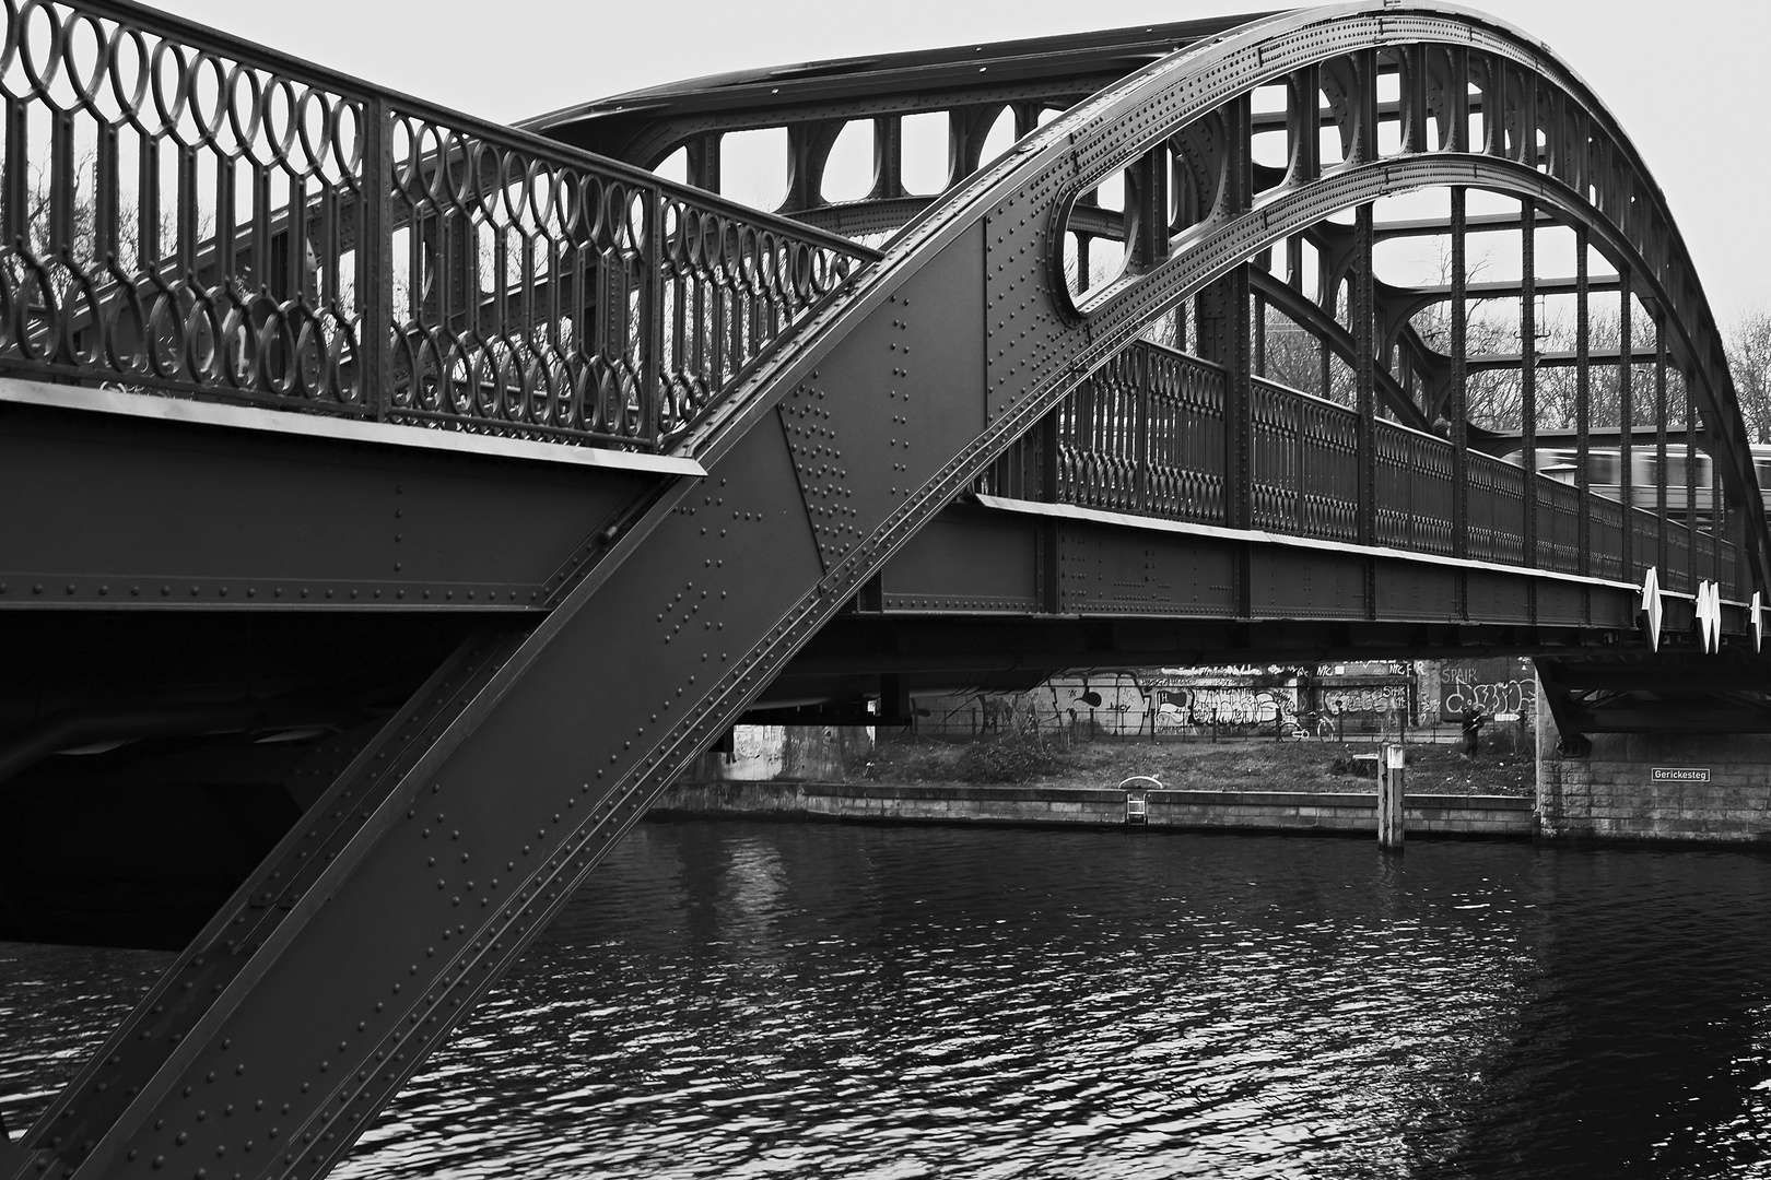
[[[1594,734],[1560,757],[1555,725],[1537,752],[1543,835],[1612,840],[1771,839],[1771,736]]]

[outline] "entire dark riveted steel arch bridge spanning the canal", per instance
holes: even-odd
[[[1486,647],[1539,656],[1571,741],[1766,724],[1714,318],[1622,129],[1484,16],[827,62],[519,129],[129,4],[5,18],[0,936],[182,948],[7,1175],[324,1175],[740,718]],[[871,184],[829,200],[852,127]],[[758,129],[772,212],[719,195]],[[1380,218],[1422,189],[1443,216]],[[1479,234],[1516,280],[1472,280]],[[1447,280],[1380,280],[1420,235]],[[1495,299],[1511,352],[1470,341]],[[1472,423],[1489,373],[1511,428]]]

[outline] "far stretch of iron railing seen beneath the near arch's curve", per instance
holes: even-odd
[[[1229,525],[1226,495],[1226,386],[1217,364],[1141,343],[1070,395],[978,481],[978,490],[1052,499],[1164,520]],[[1047,439],[1045,432],[1054,432]],[[1357,543],[1360,418],[1344,405],[1254,379],[1249,402],[1250,525],[1268,533]],[[1050,448],[1047,451],[1047,448]],[[1048,458],[1045,458],[1048,455]],[[1050,476],[1045,474],[1050,464]],[[1401,423],[1373,423],[1373,543],[1419,554],[1454,554],[1454,451]],[[1739,547],[1652,511],[1481,451],[1465,453],[1470,559],[1558,573],[1629,580],[1661,566],[1667,589],[1691,593],[1698,579],[1743,593]],[[1527,490],[1535,502],[1535,554],[1527,563]],[[1582,570],[1582,520],[1587,568]],[[1631,529],[1624,564],[1624,527]]]

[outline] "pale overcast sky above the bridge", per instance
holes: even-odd
[[[728,69],[1280,7],[1240,0],[163,0],[161,7],[476,115],[514,122]],[[1771,301],[1760,4],[1488,0],[1569,62],[1647,159],[1718,318]]]

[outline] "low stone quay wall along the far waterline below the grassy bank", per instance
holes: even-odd
[[[652,814],[1123,828],[1125,800],[1123,791],[1077,787],[685,782],[666,791],[652,807]],[[1371,833],[1378,830],[1374,794],[1151,791],[1148,807],[1153,828]],[[1406,830],[1415,835],[1530,837],[1534,831],[1528,798],[1411,794],[1403,814]]]

